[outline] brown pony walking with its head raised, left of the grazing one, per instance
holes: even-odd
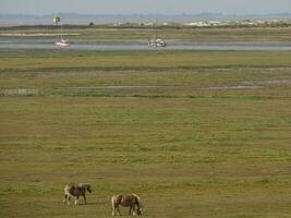
[[[77,205],[80,196],[83,196],[85,204],[87,204],[86,195],[85,195],[86,191],[92,193],[90,184],[88,184],[88,183],[80,183],[77,185],[66,184],[65,187],[64,187],[63,204],[66,203],[68,205],[70,205],[71,196],[75,196],[76,197],[75,205]]]

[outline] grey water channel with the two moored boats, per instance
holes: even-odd
[[[147,41],[71,44],[70,50],[234,50],[234,51],[291,51],[291,43],[219,43],[219,41],[167,41],[166,48],[153,48]],[[58,50],[51,39],[0,37],[0,50]]]

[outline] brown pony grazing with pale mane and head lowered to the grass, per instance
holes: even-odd
[[[123,207],[130,207],[129,216],[133,215],[135,216],[136,214],[138,216],[143,215],[143,205],[141,202],[141,198],[136,194],[130,194],[130,195],[113,195],[111,197],[111,204],[112,204],[112,216],[116,216],[116,211],[118,211],[119,215],[119,205]]]

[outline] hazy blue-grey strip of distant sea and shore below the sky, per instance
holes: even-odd
[[[242,22],[242,21],[271,21],[280,20],[291,23],[291,13],[280,14],[77,14],[77,13],[57,13],[57,14],[0,14],[0,26],[22,26],[22,25],[51,25],[52,17],[61,16],[63,24],[70,25],[109,25],[119,23],[193,23],[193,22]]]

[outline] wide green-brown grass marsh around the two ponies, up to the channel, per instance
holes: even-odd
[[[0,52],[0,217],[111,217],[132,192],[145,217],[291,217],[290,57]]]

